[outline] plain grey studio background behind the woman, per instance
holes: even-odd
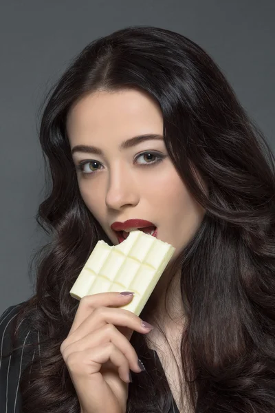
[[[184,34],[218,63],[274,139],[274,0],[0,1],[0,314],[32,295],[30,257],[47,240],[37,114],[43,96],[90,41],[128,25]]]

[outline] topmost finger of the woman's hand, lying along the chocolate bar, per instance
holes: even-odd
[[[93,313],[95,308],[124,306],[126,303],[129,303],[132,298],[133,295],[121,295],[119,292],[85,295],[85,297],[80,299],[80,303],[78,305],[71,330],[69,330],[69,334],[71,332],[74,332],[76,328],[78,328],[80,324],[82,324],[83,321],[87,319],[87,317],[89,317],[91,313]]]

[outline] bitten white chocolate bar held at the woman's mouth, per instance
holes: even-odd
[[[81,299],[108,291],[132,291],[133,299],[123,308],[138,316],[174,251],[167,242],[139,230],[115,246],[100,240],[69,293]]]

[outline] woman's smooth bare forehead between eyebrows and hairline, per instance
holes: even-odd
[[[76,134],[101,135],[117,131],[123,139],[129,138],[129,134],[161,133],[162,125],[159,105],[137,89],[87,94],[74,103],[67,116],[70,138]]]

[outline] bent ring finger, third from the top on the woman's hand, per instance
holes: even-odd
[[[113,324],[106,324],[102,328],[91,332],[82,339],[74,341],[74,343],[68,344],[63,348],[63,359],[67,362],[69,354],[74,352],[83,352],[89,348],[96,348],[102,346],[105,343],[111,342],[115,347],[117,347],[122,354],[128,360],[131,370],[134,372],[140,373],[142,369],[138,365],[137,353],[129,341],[118,331]]]

